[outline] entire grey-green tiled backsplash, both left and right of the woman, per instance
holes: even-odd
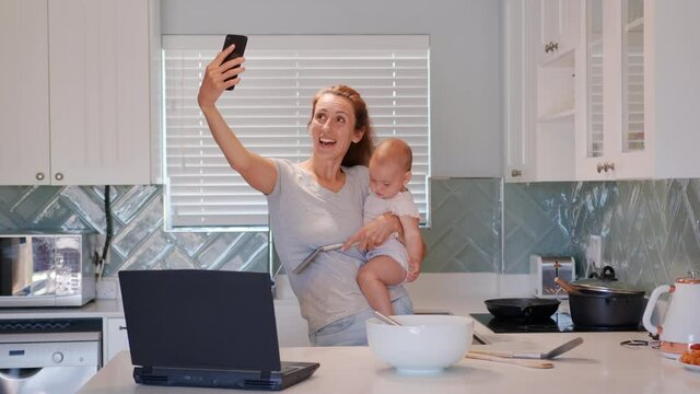
[[[163,231],[160,186],[113,186],[112,202],[115,235],[105,275],[269,269],[267,232]],[[700,179],[505,185],[433,179],[431,204],[431,227],[423,230],[427,273],[523,274],[530,253],[572,254],[585,268],[592,234],[602,235],[604,263],[630,283],[652,288],[700,270]],[[103,205],[102,186],[3,186],[0,231],[104,233]]]

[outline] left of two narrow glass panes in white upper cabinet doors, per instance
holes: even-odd
[[[586,2],[586,157],[603,155],[603,0]]]

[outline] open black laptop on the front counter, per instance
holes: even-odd
[[[271,280],[262,273],[122,270],[133,380],[278,391],[317,362],[281,362]]]

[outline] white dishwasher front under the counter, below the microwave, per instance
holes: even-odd
[[[101,318],[0,321],[0,394],[73,394],[101,367]]]

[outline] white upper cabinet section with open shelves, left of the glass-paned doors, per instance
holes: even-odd
[[[580,25],[575,19],[582,4],[580,0],[504,2],[506,182],[571,181],[575,176],[572,48],[579,37],[573,30]],[[553,15],[561,19],[555,23]],[[567,38],[557,54],[542,46],[542,40],[555,39],[545,32],[555,31]]]

